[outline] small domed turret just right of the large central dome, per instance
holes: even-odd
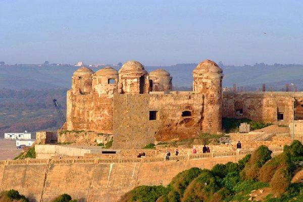
[[[149,90],[150,91],[167,91],[172,90],[173,77],[164,69],[156,69],[149,72]]]

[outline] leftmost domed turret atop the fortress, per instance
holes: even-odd
[[[76,70],[72,76],[72,90],[74,93],[89,94],[91,92],[93,71],[86,67]]]

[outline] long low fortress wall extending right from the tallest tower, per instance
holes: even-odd
[[[290,92],[224,92],[222,117],[248,118],[265,123],[288,125],[292,120],[293,94]],[[302,96],[296,93],[296,96]],[[277,121],[277,112],[283,113],[284,120]],[[243,110],[242,116],[236,110]]]

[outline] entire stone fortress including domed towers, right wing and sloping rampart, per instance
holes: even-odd
[[[55,133],[37,132],[36,159],[0,161],[0,190],[17,189],[30,201],[51,201],[63,193],[78,201],[119,201],[136,186],[166,186],[183,170],[237,162],[260,145],[267,145],[273,156],[280,154],[291,143],[293,119],[294,137],[302,141],[303,92],[222,92],[222,79],[222,69],[210,60],[197,65],[193,91],[184,92],[172,90],[165,70],[148,73],[135,61],[119,71],[94,73],[81,67],[67,92],[67,121],[58,142],[95,145],[113,137],[112,149],[83,142],[54,144]],[[274,123],[288,132],[230,133],[231,145],[209,145],[211,153],[206,154],[201,144],[193,144],[197,154],[180,146],[179,156],[168,161],[165,152],[173,154],[176,147],[142,149],[157,141],[222,133],[222,117]],[[236,150],[238,140],[243,147]],[[136,158],[141,151],[146,157]]]

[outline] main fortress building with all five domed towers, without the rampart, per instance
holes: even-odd
[[[172,90],[165,70],[146,72],[136,61],[119,72],[78,69],[67,92],[68,131],[113,134],[116,148],[221,131],[222,69],[212,61],[193,71],[192,92]]]

